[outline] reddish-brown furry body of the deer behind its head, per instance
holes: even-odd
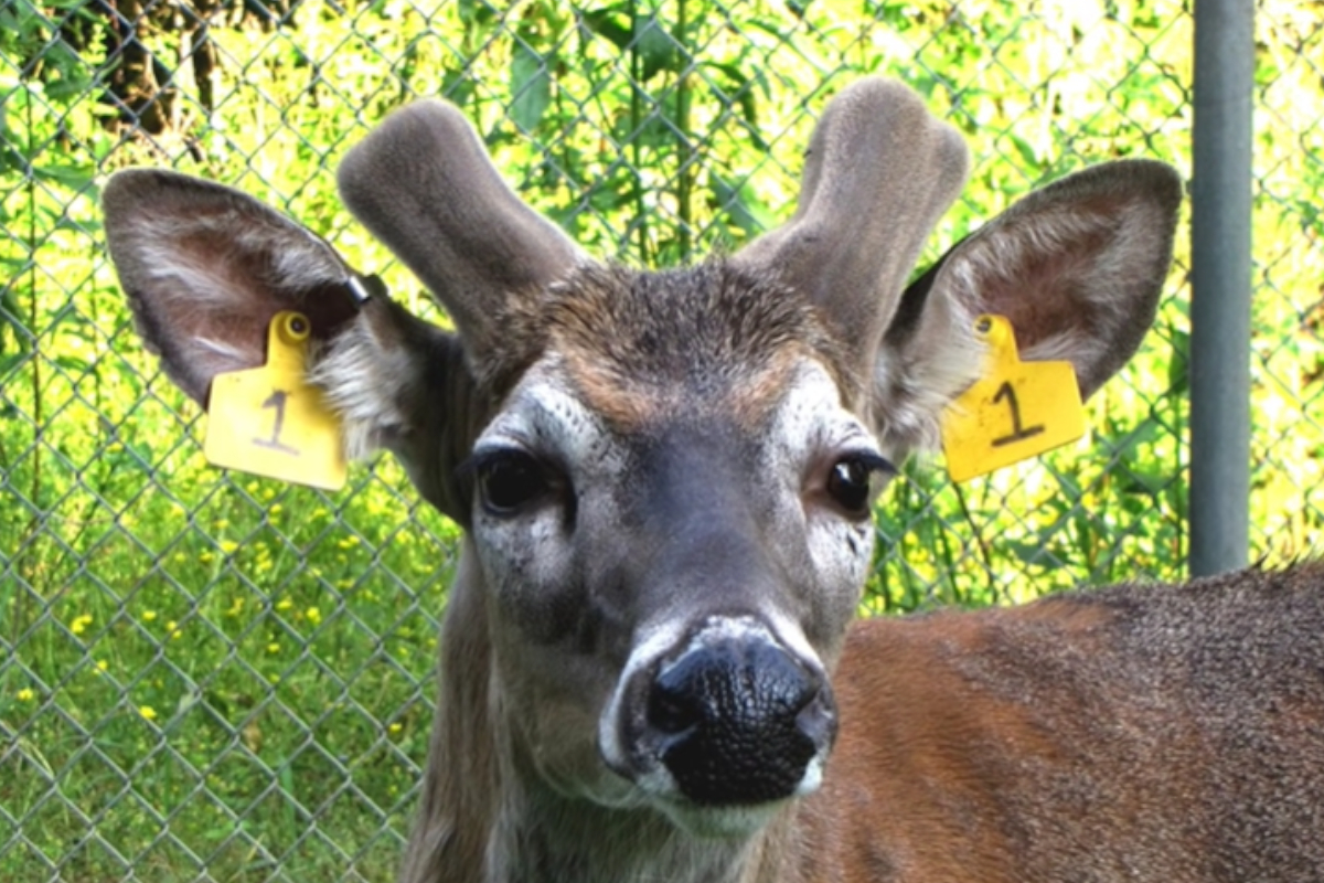
[[[1324,879],[1320,635],[1320,565],[862,622],[800,879]]]

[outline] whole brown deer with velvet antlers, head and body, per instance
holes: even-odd
[[[584,254],[420,101],[338,185],[453,330],[244,193],[110,179],[110,256],[184,393],[297,310],[347,455],[391,451],[463,528],[401,880],[1324,879],[1317,565],[857,620],[871,512],[978,379],[977,316],[1090,396],[1172,261],[1180,175],[1119,159],[912,275],[968,168],[861,79],[782,226],[650,271]]]

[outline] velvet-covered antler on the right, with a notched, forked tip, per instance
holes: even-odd
[[[733,261],[804,291],[841,339],[870,357],[968,163],[961,136],[915,93],[859,81],[828,105],[814,130],[794,216]]]

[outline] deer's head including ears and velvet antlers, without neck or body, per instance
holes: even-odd
[[[226,188],[126,172],[105,201],[140,331],[187,392],[261,364],[266,323],[301,310],[351,453],[391,449],[466,527],[445,639],[475,658],[444,678],[467,703],[450,714],[485,721],[490,774],[730,834],[822,774],[869,514],[977,379],[974,316],[1008,316],[1026,359],[1070,359],[1087,395],[1153,318],[1170,169],[1064,179],[906,287],[964,173],[951,128],[863,81],[824,113],[786,226],[634,273],[520,203],[453,107],[416,105],[340,188],[454,334],[356,306],[324,242]]]

